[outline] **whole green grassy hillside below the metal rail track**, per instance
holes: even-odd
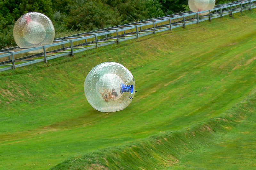
[[[215,162],[212,151],[227,149],[225,138],[227,154],[236,152],[239,140],[226,134],[252,146],[238,132],[255,126],[246,123],[255,120],[255,16],[244,11],[1,72],[0,169],[200,169]],[[87,73],[106,61],[135,77],[138,92],[119,112],[98,112],[84,95]],[[252,164],[237,169],[255,164],[247,156]]]

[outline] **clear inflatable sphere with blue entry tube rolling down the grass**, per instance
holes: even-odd
[[[132,102],[135,81],[132,73],[122,64],[105,62],[88,73],[84,92],[94,109],[101,112],[119,111]]]

